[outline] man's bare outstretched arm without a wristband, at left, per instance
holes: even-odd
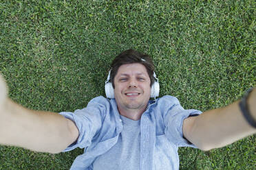
[[[23,108],[6,94],[0,75],[0,145],[56,154],[78,138],[78,129],[70,119],[54,112]]]

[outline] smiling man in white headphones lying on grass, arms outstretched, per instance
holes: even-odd
[[[256,132],[255,90],[201,114],[184,110],[175,97],[149,100],[159,88],[147,54],[123,51],[109,75],[106,93],[114,99],[96,97],[82,110],[60,114],[15,104],[1,81],[0,143],[54,154],[85,148],[71,169],[163,170],[179,168],[178,147],[209,150]]]

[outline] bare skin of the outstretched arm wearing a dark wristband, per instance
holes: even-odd
[[[248,110],[256,120],[256,88],[248,95]],[[224,147],[241,138],[256,133],[256,128],[246,121],[235,101],[224,108],[203,112],[198,117],[184,119],[184,137],[202,150]]]

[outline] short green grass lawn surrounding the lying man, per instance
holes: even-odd
[[[105,95],[111,60],[129,48],[152,56],[160,96],[184,108],[226,106],[256,84],[254,1],[0,1],[0,10],[0,71],[28,108],[84,108]],[[253,169],[255,139],[181,148],[180,169]],[[0,169],[69,169],[82,153],[0,146]]]

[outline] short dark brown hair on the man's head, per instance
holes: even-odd
[[[113,88],[115,88],[114,77],[116,76],[116,73],[118,72],[119,67],[122,64],[131,64],[131,63],[140,63],[146,67],[147,73],[149,74],[149,78],[150,78],[150,86],[152,86],[155,80],[153,77],[154,66],[150,56],[144,53],[140,53],[134,49],[128,49],[128,50],[122,51],[122,53],[116,56],[116,58],[111,63],[110,80],[112,82]]]

